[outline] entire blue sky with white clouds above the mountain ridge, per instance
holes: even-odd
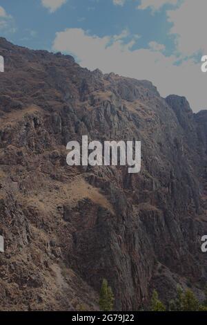
[[[150,80],[207,109],[206,0],[0,0],[0,36],[73,55],[83,67]]]

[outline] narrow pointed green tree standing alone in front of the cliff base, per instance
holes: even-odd
[[[103,279],[101,292],[99,297],[99,306],[103,311],[111,311],[114,306],[114,295],[112,293],[112,288],[108,286],[108,281]]]

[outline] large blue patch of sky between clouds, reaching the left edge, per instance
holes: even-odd
[[[170,23],[164,10],[151,15],[150,8],[136,10],[139,3],[132,0],[119,6],[112,0],[68,0],[55,12],[50,12],[41,0],[0,0],[0,6],[12,15],[13,26],[17,28],[13,33],[2,30],[1,35],[22,46],[52,50],[55,32],[65,28],[83,28],[99,37],[118,35],[128,29],[132,35],[141,35],[139,44],[137,41],[139,47],[148,47],[149,41],[157,39],[171,50],[173,37],[166,36]],[[33,37],[30,34],[32,31],[35,32]]]

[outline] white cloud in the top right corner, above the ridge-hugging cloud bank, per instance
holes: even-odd
[[[170,33],[176,35],[177,51],[181,55],[207,54],[206,12],[206,0],[185,0],[179,8],[167,11],[168,21],[172,23]]]

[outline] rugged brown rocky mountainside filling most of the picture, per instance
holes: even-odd
[[[115,310],[207,280],[207,111],[147,81],[0,39],[1,310]],[[141,173],[69,167],[66,144],[140,140]]]

